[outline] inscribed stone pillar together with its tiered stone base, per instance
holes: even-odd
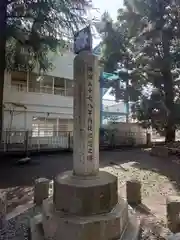
[[[74,59],[73,170],[54,181],[52,198],[31,221],[32,240],[136,240],[139,224],[118,196],[117,177],[99,171],[100,86],[98,58]]]

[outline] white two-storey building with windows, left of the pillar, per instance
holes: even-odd
[[[34,136],[72,131],[73,59],[70,51],[53,55],[54,68],[43,77],[35,71],[5,74],[5,130],[32,130]]]

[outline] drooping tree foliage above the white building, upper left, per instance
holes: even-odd
[[[68,38],[85,24],[83,16],[89,6],[87,0],[7,2],[6,68],[32,70],[38,66],[47,71],[52,67],[49,52],[64,52]]]

